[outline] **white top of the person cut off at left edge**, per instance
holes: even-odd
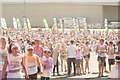
[[[3,69],[5,57],[7,56],[7,54],[8,54],[7,48],[0,49],[0,71],[2,71],[2,69]]]

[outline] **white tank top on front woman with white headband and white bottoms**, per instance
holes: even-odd
[[[8,69],[9,70],[17,70],[22,69],[22,55],[20,56],[13,56],[13,54],[8,54]]]

